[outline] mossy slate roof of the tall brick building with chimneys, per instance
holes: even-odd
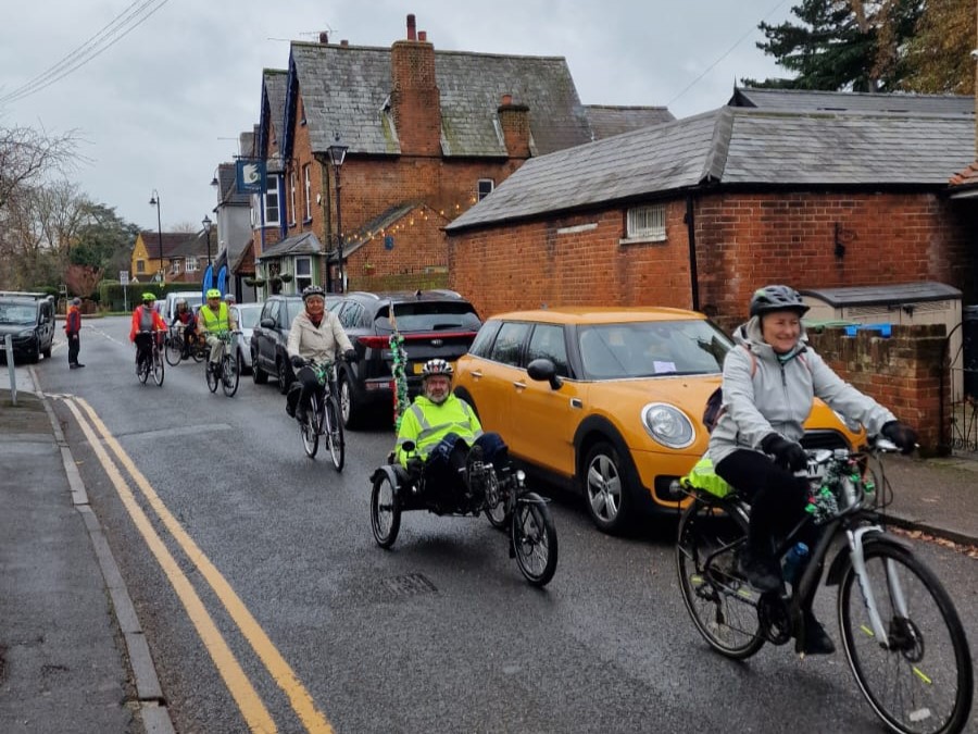
[[[299,82],[313,151],[325,151],[338,132],[351,153],[400,153],[389,114],[390,57],[386,48],[292,42],[289,69]],[[535,154],[592,139],[563,58],[436,49],[435,77],[444,155],[506,157],[496,127],[504,94],[529,107]]]

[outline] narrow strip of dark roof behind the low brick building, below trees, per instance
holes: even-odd
[[[826,112],[893,112],[912,115],[975,116],[975,98],[962,95],[865,94],[806,89],[734,88],[730,107],[764,110],[824,110]]]

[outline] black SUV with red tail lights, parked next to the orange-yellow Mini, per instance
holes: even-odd
[[[452,290],[353,291],[327,308],[337,314],[356,349],[356,359],[342,362],[339,370],[340,410],[343,424],[351,428],[378,407],[393,411],[391,309],[404,337],[412,398],[421,390],[424,363],[436,357],[454,362],[468,351],[481,326],[473,304]]]

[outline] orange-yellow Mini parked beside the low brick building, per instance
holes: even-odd
[[[459,359],[455,394],[485,430],[502,434],[513,458],[584,495],[594,524],[617,533],[687,503],[678,480],[706,451],[703,409],[731,346],[692,311],[505,313]],[[806,427],[808,448],[856,440],[820,401]]]

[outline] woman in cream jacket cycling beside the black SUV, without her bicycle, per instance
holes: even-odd
[[[340,357],[348,360],[356,358],[356,350],[350,343],[350,337],[343,331],[336,314],[326,310],[326,294],[315,285],[302,289],[302,302],[305,310],[292,320],[289,327],[289,341],[286,350],[292,368],[297,370],[296,380],[302,385],[299,393],[298,406],[286,398],[286,411],[289,415],[296,415],[300,421],[305,421],[305,410],[309,407],[310,396],[319,389],[319,381],[316,373],[305,363],[309,360],[316,362],[337,362]]]

